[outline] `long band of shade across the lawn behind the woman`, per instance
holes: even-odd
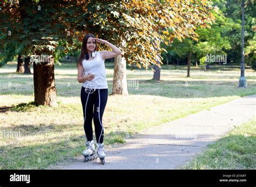
[[[109,84],[109,95],[112,93],[112,81]],[[156,81],[156,80],[139,80],[138,89],[134,85],[128,87],[130,95],[152,95],[169,98],[209,98],[209,97],[226,97],[226,96],[247,96],[256,93],[256,83],[248,82],[245,89],[238,88],[238,81],[206,81],[206,80],[190,80],[190,81]],[[67,83],[57,84],[58,96],[62,97],[80,97],[80,85],[74,87],[66,86]],[[22,86],[20,86],[22,87]],[[132,87],[132,88],[131,88]],[[31,92],[25,90],[10,92],[2,91],[2,94],[31,96]],[[77,90],[77,91],[76,91]]]

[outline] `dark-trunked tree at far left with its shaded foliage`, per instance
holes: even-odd
[[[54,77],[55,50],[59,42],[71,45],[84,27],[77,26],[85,2],[5,1],[1,5],[1,65],[17,54],[48,55],[33,61],[35,103],[57,106]],[[79,14],[80,12],[80,14]],[[37,63],[39,62],[39,63]]]

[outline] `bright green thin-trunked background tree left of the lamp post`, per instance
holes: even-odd
[[[177,55],[180,59],[188,59],[187,76],[190,76],[191,53],[195,64],[197,64],[197,60],[204,64],[207,54],[230,57],[227,54],[232,44],[229,34],[233,30],[238,30],[240,25],[235,23],[232,18],[225,17],[225,13],[222,11],[224,4],[222,0],[213,2],[214,9],[211,12],[215,17],[215,23],[211,25],[211,28],[197,28],[196,33],[199,35],[197,42],[187,38],[182,42],[174,40],[173,44],[170,44],[169,52],[172,52],[172,54],[174,52],[174,55]],[[174,57],[177,58],[177,56]]]

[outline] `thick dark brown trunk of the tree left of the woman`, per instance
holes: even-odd
[[[57,107],[54,59],[50,62],[33,62],[35,104]]]

